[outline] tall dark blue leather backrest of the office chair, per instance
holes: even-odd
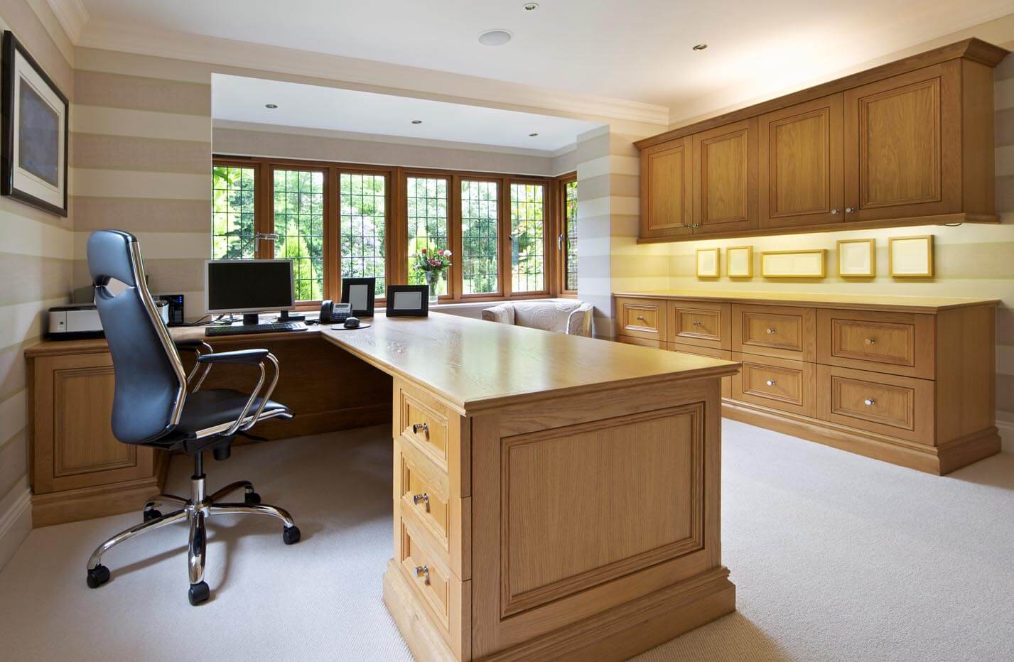
[[[150,442],[179,423],[187,375],[144,280],[137,237],[100,230],[88,237],[95,306],[113,355],[113,434],[127,444]],[[127,286],[118,295],[110,281]]]

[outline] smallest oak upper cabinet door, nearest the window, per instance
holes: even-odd
[[[679,139],[641,155],[641,236],[690,234],[693,201],[691,147]]]

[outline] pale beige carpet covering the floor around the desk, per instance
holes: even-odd
[[[391,554],[389,427],[236,448],[303,531],[211,520],[212,599],[187,602],[185,526],[106,556],[121,515],[35,529],[0,573],[3,660],[411,660],[380,600]],[[1014,659],[1014,455],[937,477],[726,421],[723,557],[739,610],[639,658]],[[175,458],[169,487],[190,467]]]

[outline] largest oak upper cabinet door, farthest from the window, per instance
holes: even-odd
[[[960,211],[959,63],[845,93],[847,221]]]

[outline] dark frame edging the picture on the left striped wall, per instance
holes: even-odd
[[[35,59],[31,57],[24,46],[10,30],[5,30],[3,33],[2,58],[3,63],[2,67],[0,67],[0,76],[3,78],[3,92],[0,95],[0,123],[2,123],[3,145],[2,150],[0,150],[0,195],[10,196],[14,200],[31,205],[32,207],[66,217],[70,103],[67,100],[67,96],[57,87],[53,79],[46,74],[43,68],[39,66],[39,63],[35,62]],[[26,79],[21,81],[23,86],[17,85],[18,59],[23,60],[24,64],[30,67],[39,79],[49,88],[45,91],[50,92],[63,103],[62,123],[59,122],[59,115],[56,118],[46,116],[46,111],[51,109],[49,101],[35,91]],[[18,90],[20,90],[20,93],[18,93]],[[19,103],[20,105],[15,107],[15,103]],[[32,122],[32,117],[25,119],[25,115],[22,115],[22,112],[26,114],[31,111],[37,113],[37,116],[33,117],[37,119],[41,118],[43,121],[56,127],[55,146],[52,143],[47,144],[49,143],[48,140],[44,141],[35,136],[24,137],[21,135],[22,127],[27,126],[26,123]],[[19,126],[15,126],[14,124],[15,115],[20,119]],[[41,135],[46,136],[47,133],[44,130]],[[18,141],[21,141],[22,138],[25,139],[25,142],[20,144],[18,148],[18,153],[22,157],[20,159],[21,163],[16,163],[14,146],[19,144]],[[34,138],[34,140],[30,143],[27,142],[31,138]],[[59,166],[61,142],[63,143],[63,168]],[[24,158],[25,152],[28,153],[27,161]],[[49,179],[48,177],[50,176],[55,181]],[[22,178],[25,182],[29,182],[32,177],[42,182],[38,185],[39,189],[45,189],[46,186],[56,189],[54,195],[58,199],[63,199],[62,205],[41,198],[39,195],[26,190],[23,186],[19,186],[22,183]]]

